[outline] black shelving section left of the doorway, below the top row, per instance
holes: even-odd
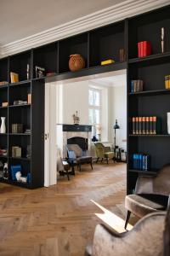
[[[44,82],[29,80],[0,87],[0,99],[8,102],[8,107],[1,107],[1,116],[6,117],[7,132],[0,133],[0,146],[7,149],[7,155],[0,155],[0,161],[8,163],[8,179],[1,179],[3,183],[19,185],[21,187],[35,189],[42,187],[43,178],[43,135],[44,135]],[[14,101],[27,102],[27,96],[31,94],[31,103],[14,105]],[[37,118],[38,117],[38,118]],[[12,124],[22,124],[22,133],[13,133]],[[30,133],[25,133],[30,129]],[[32,130],[33,129],[33,130]],[[12,147],[21,148],[21,157],[13,157]],[[27,147],[31,147],[31,155],[27,157]],[[31,175],[30,183],[20,183],[13,180],[11,166],[21,166],[22,176]]]

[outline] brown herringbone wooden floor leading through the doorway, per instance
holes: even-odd
[[[0,255],[81,256],[101,223],[90,200],[124,218],[126,164],[83,166],[50,188],[0,184]],[[106,256],[106,255],[105,255]]]

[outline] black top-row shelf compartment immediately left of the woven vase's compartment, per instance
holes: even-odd
[[[33,78],[36,79],[36,66],[44,67],[45,74],[58,73],[58,42],[33,49]]]

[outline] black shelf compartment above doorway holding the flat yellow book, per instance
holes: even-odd
[[[101,61],[109,59],[120,62],[119,50],[125,49],[124,26],[124,21],[121,21],[89,32],[90,67],[99,66]]]

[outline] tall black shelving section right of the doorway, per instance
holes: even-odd
[[[170,135],[167,134],[167,112],[170,90],[165,76],[170,72],[169,6],[128,20],[127,60],[127,194],[132,193],[139,175],[156,175],[168,162]],[[165,29],[164,53],[161,53],[161,27]],[[138,42],[150,41],[152,54],[138,57]],[[131,80],[142,79],[144,91],[132,93]],[[161,133],[132,134],[132,117],[156,116],[161,119]],[[150,170],[133,170],[133,154],[150,154]]]

